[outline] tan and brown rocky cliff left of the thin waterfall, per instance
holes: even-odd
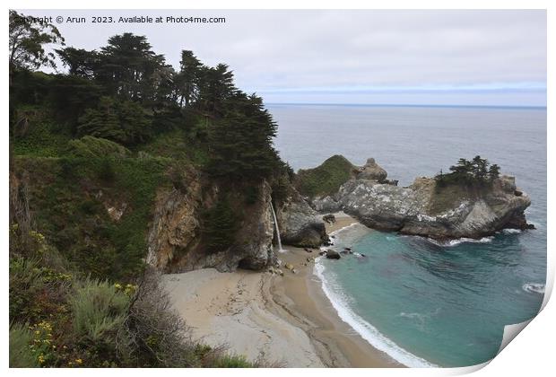
[[[165,272],[204,267],[222,272],[238,267],[260,270],[275,264],[271,189],[266,181],[257,188],[255,204],[242,214],[233,244],[215,252],[205,248],[200,219],[203,208],[218,197],[218,187],[207,189],[194,173],[180,187],[163,189],[158,194],[148,236],[147,263]]]

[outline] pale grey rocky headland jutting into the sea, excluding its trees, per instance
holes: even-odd
[[[385,181],[386,174],[380,179]],[[531,200],[517,190],[513,177],[502,176],[481,191],[436,189],[430,178],[416,179],[407,188],[395,183],[358,176],[333,196],[313,199],[312,205],[321,212],[343,210],[370,228],[437,239],[480,238],[503,228],[527,227],[524,211]]]

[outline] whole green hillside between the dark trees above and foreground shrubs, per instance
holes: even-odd
[[[72,265],[92,276],[136,276],[157,189],[172,167],[202,166],[206,155],[187,133],[162,133],[132,152],[104,139],[76,139],[35,107],[25,136],[11,133],[13,170],[29,177],[36,228]],[[67,127],[65,127],[67,129]],[[175,169],[174,169],[175,170]],[[107,206],[126,206],[119,221]]]

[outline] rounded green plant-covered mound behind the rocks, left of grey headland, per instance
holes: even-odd
[[[300,170],[294,180],[301,195],[332,195],[354,176],[356,167],[342,155],[334,155],[314,169]]]

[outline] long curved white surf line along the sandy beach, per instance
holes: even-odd
[[[378,329],[372,326],[366,320],[363,320],[358,314],[352,311],[348,304],[348,299],[344,294],[339,294],[340,289],[334,290],[332,285],[334,283],[325,277],[325,266],[322,264],[322,257],[315,259],[314,274],[321,282],[322,290],[325,292],[326,297],[332,303],[338,316],[352,327],[361,338],[367,340],[371,346],[378,350],[387,353],[397,362],[410,367],[436,367],[438,365],[431,364],[427,360],[404,350],[401,346],[395,344],[394,341],[385,337]]]

